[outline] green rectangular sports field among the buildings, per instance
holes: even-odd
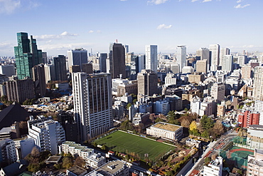
[[[114,152],[138,153],[141,159],[144,159],[144,154],[148,154],[150,160],[158,160],[163,154],[175,147],[165,143],[159,143],[154,140],[149,140],[122,131],[116,131],[99,140],[95,140],[98,145],[106,145],[109,150]]]

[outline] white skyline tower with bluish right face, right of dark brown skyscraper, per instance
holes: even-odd
[[[157,46],[146,45],[145,46],[145,68],[157,73]]]

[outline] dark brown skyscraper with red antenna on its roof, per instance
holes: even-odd
[[[125,48],[122,43],[111,43],[109,46],[109,69],[112,78],[126,78]]]

